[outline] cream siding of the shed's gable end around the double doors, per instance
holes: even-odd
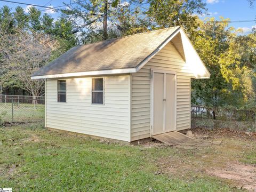
[[[190,78],[194,75],[172,43],[168,43],[138,73],[131,75],[132,141],[150,137],[150,69],[177,72],[177,131],[190,128]]]

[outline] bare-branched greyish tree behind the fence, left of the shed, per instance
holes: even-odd
[[[44,80],[31,80],[30,77],[49,61],[54,42],[44,34],[31,35],[23,31],[9,35],[9,38],[12,39],[12,52],[8,54],[9,59],[4,61],[8,68],[4,77],[16,79],[19,82],[16,85],[29,92],[35,99],[43,93]]]

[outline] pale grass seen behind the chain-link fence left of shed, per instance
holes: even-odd
[[[14,103],[13,122],[29,122],[44,118],[44,105],[29,103]],[[12,103],[0,103],[0,119],[2,122],[12,122]]]

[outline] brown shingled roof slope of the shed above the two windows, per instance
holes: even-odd
[[[75,46],[36,71],[31,78],[137,72],[138,66],[179,30],[180,27],[171,27]]]

